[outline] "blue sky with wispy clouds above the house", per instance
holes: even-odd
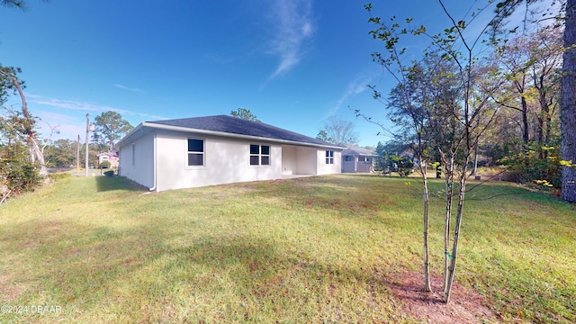
[[[366,85],[393,85],[371,60],[362,1],[29,0],[0,7],[0,63],[22,67],[29,109],[57,126],[53,139],[85,137],[85,114],[142,121],[249,109],[261,121],[316,137],[330,116],[353,121],[359,144],[387,138],[356,119],[385,121]],[[383,18],[444,29],[436,1],[374,1]],[[456,17],[483,1],[446,0]],[[410,40],[417,55],[426,40]],[[8,104],[17,104],[14,97]],[[40,122],[41,131],[48,127]]]

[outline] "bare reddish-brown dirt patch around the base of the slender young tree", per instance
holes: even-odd
[[[383,277],[402,305],[402,312],[429,323],[485,323],[498,322],[498,315],[485,304],[486,298],[462,284],[454,283],[450,303],[446,305],[442,293],[442,277],[431,278],[432,290],[424,292],[424,276],[416,272],[404,272]]]

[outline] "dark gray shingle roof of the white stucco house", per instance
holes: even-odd
[[[281,128],[268,125],[260,121],[248,121],[245,119],[227,115],[183,118],[167,121],[148,121],[161,125],[184,127],[195,130],[211,130],[230,134],[255,136],[266,139],[284,139],[301,143],[316,144],[322,146],[338,146],[311,137]]]

